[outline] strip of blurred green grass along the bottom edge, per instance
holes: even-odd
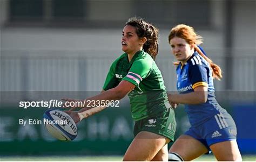
[[[0,161],[121,161],[122,156],[38,156],[0,157]],[[244,161],[256,161],[256,155],[242,156]],[[194,161],[216,161],[213,155],[204,155]]]

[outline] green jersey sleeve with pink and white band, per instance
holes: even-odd
[[[151,61],[146,61],[144,59],[136,60],[133,62],[128,74],[123,78],[123,80],[129,81],[135,86],[147,77],[152,67]]]

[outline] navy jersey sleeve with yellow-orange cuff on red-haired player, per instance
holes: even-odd
[[[198,86],[208,87],[207,69],[203,65],[191,65],[188,69],[188,76],[193,89]]]

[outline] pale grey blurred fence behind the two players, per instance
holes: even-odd
[[[218,53],[209,50],[208,53]],[[105,51],[106,52],[106,51]],[[111,51],[108,51],[111,53]],[[156,62],[164,76],[167,90],[176,91],[176,67],[173,56],[164,51]],[[122,54],[122,53],[120,53]],[[161,55],[161,53],[159,53]],[[99,91],[113,60],[118,55],[103,55],[100,51],[2,51],[2,91]],[[211,54],[210,54],[211,57]],[[215,81],[216,91],[255,91],[256,54],[235,55],[211,59],[223,70],[224,80]],[[225,60],[230,60],[233,73],[231,89],[225,88],[228,77]]]

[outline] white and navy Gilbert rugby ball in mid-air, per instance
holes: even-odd
[[[43,115],[43,123],[48,132],[59,140],[70,141],[77,137],[76,123],[62,110],[46,110]]]

